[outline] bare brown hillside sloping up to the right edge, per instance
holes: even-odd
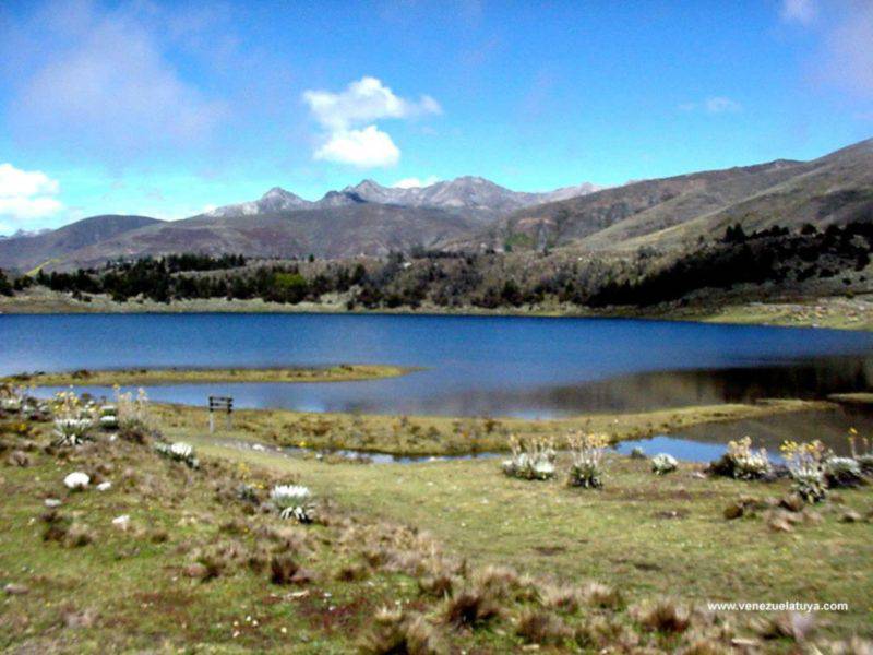
[[[873,140],[868,140],[812,162],[780,159],[645,180],[528,207],[454,247],[694,248],[701,237],[719,237],[736,223],[746,231],[804,223],[824,227],[870,219],[871,211]]]

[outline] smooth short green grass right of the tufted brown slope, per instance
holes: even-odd
[[[851,611],[818,618],[873,635],[873,524],[838,522],[845,509],[873,511],[869,488],[840,491],[839,503],[818,510],[817,525],[775,533],[761,515],[727,521],[722,512],[741,496],[784,496],[786,481],[699,479],[699,467],[687,464],[655,476],[647,462],[611,457],[605,488],[583,491],[563,479],[507,478],[493,460],[325,464],[201,443],[204,452],[300,476],[360,512],[417,525],[477,564],[599,580],[634,596],[846,602]]]

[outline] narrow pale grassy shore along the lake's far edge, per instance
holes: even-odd
[[[820,297],[798,301],[742,301],[730,300],[718,305],[656,306],[651,308],[611,308],[594,310],[576,305],[523,306],[517,309],[487,310],[478,307],[445,308],[422,305],[418,309],[400,307],[369,311],[346,309],[342,298],[327,298],[323,302],[283,305],[263,300],[180,300],[170,303],[151,300],[113,302],[94,296],[89,301],[75,300],[69,294],[47,289],[28,289],[12,298],[0,297],[0,313],[397,313],[438,315],[521,315],[543,318],[629,318],[782,325],[793,327],[829,327],[837,330],[873,330],[873,300],[870,296],[857,298]]]

